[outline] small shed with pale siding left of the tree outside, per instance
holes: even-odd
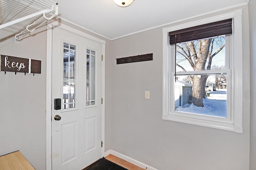
[[[175,107],[184,106],[189,102],[189,96],[192,95],[193,85],[190,83],[176,80],[175,82]]]

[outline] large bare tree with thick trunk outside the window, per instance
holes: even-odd
[[[217,47],[217,48],[216,48]],[[215,37],[176,44],[176,65],[183,71],[185,66],[180,64],[188,61],[194,71],[211,70],[212,59],[225,47],[224,37]],[[217,49],[217,50],[216,50]],[[205,85],[208,75],[190,75],[193,81],[192,103],[195,106],[204,107],[203,98],[206,96]]]

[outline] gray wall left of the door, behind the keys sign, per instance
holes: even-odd
[[[0,54],[42,61],[41,74],[0,72],[0,155],[20,150],[37,170],[46,169],[46,31],[14,43],[0,39]],[[37,31],[37,32],[38,32]],[[2,33],[2,32],[0,32]],[[35,33],[33,33],[35,34]],[[2,34],[3,35],[3,34]]]

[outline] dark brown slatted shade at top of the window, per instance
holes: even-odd
[[[169,32],[170,45],[230,34],[232,34],[232,18]]]

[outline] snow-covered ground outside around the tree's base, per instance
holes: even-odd
[[[193,104],[186,104],[176,109],[179,112],[197,113],[203,115],[212,115],[218,117],[226,117],[227,108],[227,92],[226,89],[216,89],[210,92],[210,96],[203,99],[204,107],[197,107]]]

